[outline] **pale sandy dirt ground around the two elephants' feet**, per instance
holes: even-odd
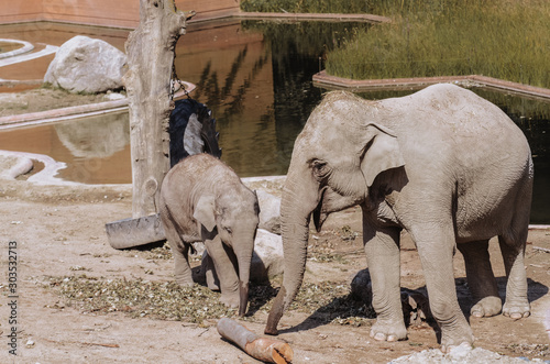
[[[52,100],[38,102],[47,106]],[[76,102],[81,103],[82,99]],[[6,167],[3,162],[0,168]],[[170,260],[157,258],[147,250],[117,251],[109,245],[105,223],[129,217],[131,187],[128,185],[41,186],[24,179],[0,180],[0,362],[257,363],[220,339],[216,319],[194,323],[147,315],[135,318],[125,310],[87,310],[78,300],[61,296],[52,286],[52,277],[66,279],[82,274],[105,282],[172,282]],[[495,241],[491,243],[491,251],[503,296],[504,266]],[[9,269],[14,264],[9,262],[15,254],[16,280],[10,282]],[[366,265],[359,209],[333,214],[321,233],[311,233],[309,254],[306,284],[329,282],[348,289],[354,275]],[[475,345],[510,356],[550,360],[544,327],[550,309],[549,230],[530,231],[526,269],[531,316],[517,321],[503,316],[469,318],[476,337]],[[406,234],[402,244],[402,276],[403,287],[418,289],[425,285],[417,252]],[[457,254],[458,291],[461,306],[468,312],[472,302],[464,276],[462,257]],[[16,290],[10,291],[12,288]],[[294,363],[386,363],[439,348],[437,328],[427,323],[409,328],[406,341],[386,343],[369,337],[373,319],[361,321],[362,326],[354,324],[358,321],[353,317],[332,323],[319,320],[318,312],[337,297],[324,299],[328,305],[316,307],[314,302],[309,311],[292,309],[280,321],[278,338],[293,348]],[[14,300],[16,307],[10,307]],[[262,334],[266,317],[266,309],[257,309],[243,322]],[[13,319],[16,323],[10,322]],[[18,356],[9,354],[12,348],[8,335],[12,328],[16,330]]]

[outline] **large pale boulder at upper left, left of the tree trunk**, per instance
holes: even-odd
[[[77,35],[50,64],[44,82],[70,92],[97,93],[122,88],[127,56],[109,43]]]

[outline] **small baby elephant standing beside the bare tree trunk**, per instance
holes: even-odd
[[[213,264],[220,300],[246,311],[254,238],[256,194],[226,164],[208,154],[189,156],[166,175],[161,189],[161,220],[172,247],[176,282],[193,286],[188,253],[202,241]],[[212,277],[208,277],[212,287]]]

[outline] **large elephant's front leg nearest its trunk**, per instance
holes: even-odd
[[[400,299],[399,229],[375,231],[363,227],[366,262],[371,274],[376,323],[371,329],[375,340],[407,339]]]

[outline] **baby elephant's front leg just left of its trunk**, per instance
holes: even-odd
[[[213,262],[220,283],[220,301],[229,307],[239,307],[239,275],[219,235],[205,240],[208,255]]]

